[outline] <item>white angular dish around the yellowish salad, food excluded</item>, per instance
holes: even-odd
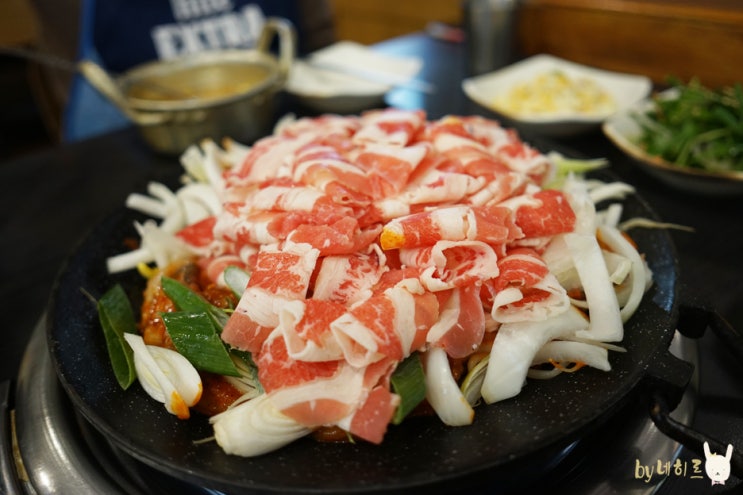
[[[516,85],[528,83],[554,70],[562,71],[572,80],[591,79],[613,99],[615,108],[600,114],[574,112],[521,116],[494,107],[493,102]],[[651,88],[652,82],[645,76],[606,71],[546,54],[535,55],[495,72],[462,81],[462,90],[470,99],[496,112],[508,124],[551,137],[570,137],[596,130],[614,112],[647,97]]]

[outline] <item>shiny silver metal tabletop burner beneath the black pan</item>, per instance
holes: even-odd
[[[150,495],[219,495],[223,492],[195,486],[144,464],[108,442],[79,416],[59,384],[46,345],[44,318],[37,325],[26,349],[15,392],[15,431],[18,459],[3,453],[3,479],[9,495],[52,493],[106,493]],[[677,357],[698,369],[697,342],[676,333],[670,346]],[[673,413],[689,425],[698,390],[695,371],[690,386]],[[3,411],[7,416],[10,412]],[[621,491],[640,454],[647,458],[675,460],[680,445],[657,430],[637,401],[624,406],[599,431],[551,452],[538,469],[540,484],[557,489],[569,486],[570,493],[597,494]],[[17,475],[17,465],[24,471]],[[6,476],[11,473],[12,479]],[[523,479],[513,486],[486,487],[483,493],[523,491]],[[508,483],[506,483],[508,485]],[[633,493],[655,493],[657,483],[635,483]],[[472,492],[472,493],[477,493]]]

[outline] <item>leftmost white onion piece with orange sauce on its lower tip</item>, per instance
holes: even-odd
[[[203,390],[196,368],[176,351],[145,344],[139,335],[125,333],[124,338],[134,351],[134,367],[145,392],[165,404],[169,413],[188,419],[189,407]]]

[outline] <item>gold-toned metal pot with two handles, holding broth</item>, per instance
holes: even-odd
[[[278,38],[278,56],[270,47]],[[270,132],[276,94],[296,52],[294,28],[269,18],[256,48],[190,54],[148,62],[112,77],[85,60],[79,70],[137,125],[157,152],[178,154],[202,139],[243,143]]]

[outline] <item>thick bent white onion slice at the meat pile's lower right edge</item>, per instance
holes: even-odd
[[[587,327],[588,320],[575,308],[548,320],[501,325],[490,350],[480,390],[483,399],[492,404],[518,395],[534,356],[545,343],[574,335]]]

